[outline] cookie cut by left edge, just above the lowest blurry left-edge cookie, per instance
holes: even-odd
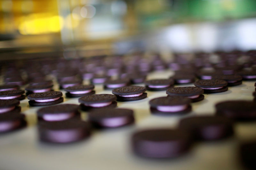
[[[9,112],[20,113],[21,107],[19,104],[20,101],[16,99],[0,100],[0,114]]]

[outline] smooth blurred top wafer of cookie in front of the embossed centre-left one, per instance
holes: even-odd
[[[133,116],[133,110],[123,109],[123,108],[108,108],[108,109],[99,109],[97,111],[89,112],[89,119],[99,120],[105,118],[113,117],[131,117]]]

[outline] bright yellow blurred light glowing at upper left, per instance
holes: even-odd
[[[23,35],[35,35],[60,32],[63,18],[51,14],[31,14],[23,19],[19,25],[19,32]]]

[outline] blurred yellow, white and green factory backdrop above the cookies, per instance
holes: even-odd
[[[256,49],[255,0],[1,0],[0,59]]]

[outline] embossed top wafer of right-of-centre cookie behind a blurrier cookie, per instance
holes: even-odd
[[[166,90],[166,94],[169,96],[194,96],[203,94],[204,90],[199,87],[187,86],[187,87],[173,87]]]

